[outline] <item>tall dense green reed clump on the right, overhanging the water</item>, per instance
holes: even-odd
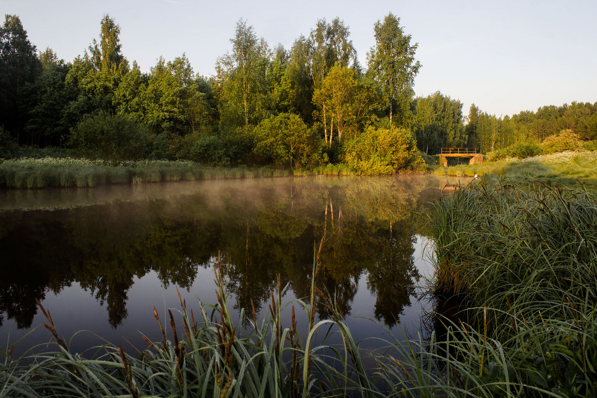
[[[454,343],[484,342],[479,377],[500,374],[488,357],[501,351],[509,374],[500,377],[525,396],[595,396],[597,200],[586,190],[473,185],[436,202],[429,224],[436,293],[469,307]]]

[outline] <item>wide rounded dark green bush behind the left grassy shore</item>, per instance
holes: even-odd
[[[122,115],[88,116],[70,132],[69,146],[90,159],[124,161],[149,153],[150,135],[143,125]]]

